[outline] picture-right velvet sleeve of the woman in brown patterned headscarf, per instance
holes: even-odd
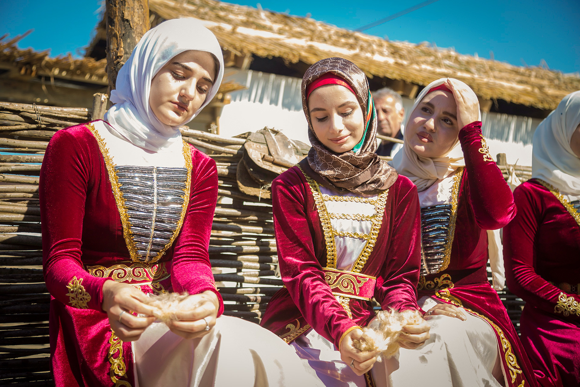
[[[404,176],[398,179],[403,180],[403,184],[394,199],[393,234],[375,287],[375,298],[383,310],[419,309],[416,301],[421,254],[419,198],[417,187],[409,179]]]

